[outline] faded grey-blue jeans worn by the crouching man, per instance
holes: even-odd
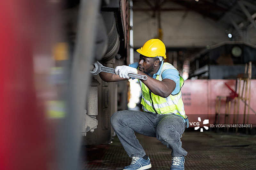
[[[188,153],[181,147],[180,141],[180,136],[186,129],[186,123],[178,115],[157,115],[136,110],[124,110],[114,113],[110,118],[110,123],[130,158],[146,155],[134,132],[156,137],[167,148],[172,149],[173,157]]]

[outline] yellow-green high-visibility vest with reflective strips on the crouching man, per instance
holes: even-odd
[[[164,63],[160,72],[160,75],[156,76],[157,80],[162,81],[162,73],[166,69],[175,69],[172,64]],[[177,70],[178,71],[178,70]],[[179,72],[179,71],[178,71]],[[179,73],[180,76],[180,73]],[[140,80],[140,87],[142,92],[141,104],[143,105],[144,112],[153,112],[156,114],[176,114],[180,115],[184,119],[188,116],[185,114],[184,104],[181,99],[181,91],[175,95],[170,95],[167,98],[163,98],[152,93],[148,87],[142,83]],[[180,90],[184,84],[183,78],[180,76]]]

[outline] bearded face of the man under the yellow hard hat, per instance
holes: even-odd
[[[149,74],[154,71],[154,60],[152,57],[146,57],[140,54],[139,70],[145,74]]]

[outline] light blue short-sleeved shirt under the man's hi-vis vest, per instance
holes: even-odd
[[[164,62],[161,63],[161,66],[160,66],[159,70],[157,71],[156,74],[153,75],[153,78],[156,78],[156,76],[160,74],[160,72],[162,70],[162,67],[163,67],[163,64],[164,64]],[[130,67],[133,67],[133,68],[136,68],[136,69],[138,68],[138,65],[139,65],[138,62],[129,64]],[[178,92],[180,92],[180,76],[179,76],[179,72],[177,70],[174,70],[174,69],[164,70],[163,73],[162,73],[162,78],[163,79],[164,78],[171,79],[176,83],[176,87],[172,91],[172,95],[175,95]],[[132,79],[134,79],[134,78],[132,78]]]

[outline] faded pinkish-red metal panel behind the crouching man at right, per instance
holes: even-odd
[[[225,85],[227,83],[232,89],[236,89],[236,80],[185,80],[182,87],[182,99],[186,115],[189,117],[190,127],[196,127],[198,117],[201,118],[201,122],[205,119],[209,120],[209,124],[215,122],[215,110],[216,110],[216,97],[217,96],[229,96],[231,90]],[[256,111],[256,80],[251,80],[251,108]],[[229,124],[233,124],[234,115],[234,101],[231,100]],[[220,112],[225,113],[226,100],[221,100]],[[247,101],[248,103],[248,101]],[[245,104],[240,101],[238,124],[243,124],[244,119],[244,106]],[[247,108],[246,108],[247,109]],[[247,110],[246,110],[247,115]],[[224,123],[224,115],[221,115],[220,123]],[[246,116],[247,120],[247,116]],[[256,115],[252,110],[249,111],[248,124],[254,124],[255,126]],[[192,123],[191,123],[192,122]],[[200,123],[201,123],[200,122]],[[236,121],[235,121],[236,123]],[[246,123],[246,121],[245,121]],[[202,123],[200,124],[202,126]]]

